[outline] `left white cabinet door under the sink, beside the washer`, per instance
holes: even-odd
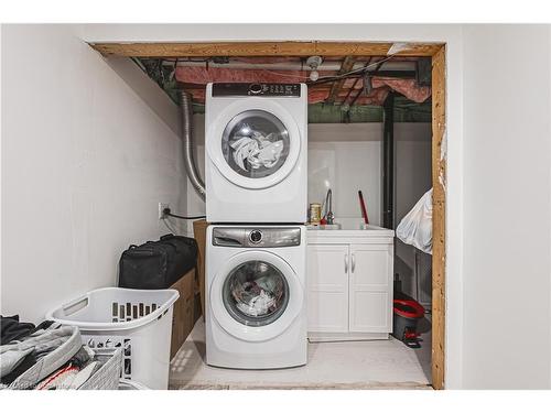
[[[307,246],[309,332],[348,332],[347,244]]]

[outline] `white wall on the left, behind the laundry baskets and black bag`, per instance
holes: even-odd
[[[116,283],[185,207],[180,141],[73,25],[2,26],[1,313],[37,322]]]

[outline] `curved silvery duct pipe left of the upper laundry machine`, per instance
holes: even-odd
[[[195,142],[193,140],[193,107],[192,95],[184,90],[179,91],[180,108],[182,115],[182,149],[184,154],[184,166],[187,172],[187,177],[193,185],[193,188],[205,200],[205,183],[201,178],[197,166],[195,164]]]

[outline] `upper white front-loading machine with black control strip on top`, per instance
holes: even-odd
[[[207,85],[207,221],[305,222],[306,153],[306,85]]]

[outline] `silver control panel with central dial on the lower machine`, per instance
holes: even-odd
[[[215,227],[213,246],[236,248],[278,248],[301,244],[301,228]]]

